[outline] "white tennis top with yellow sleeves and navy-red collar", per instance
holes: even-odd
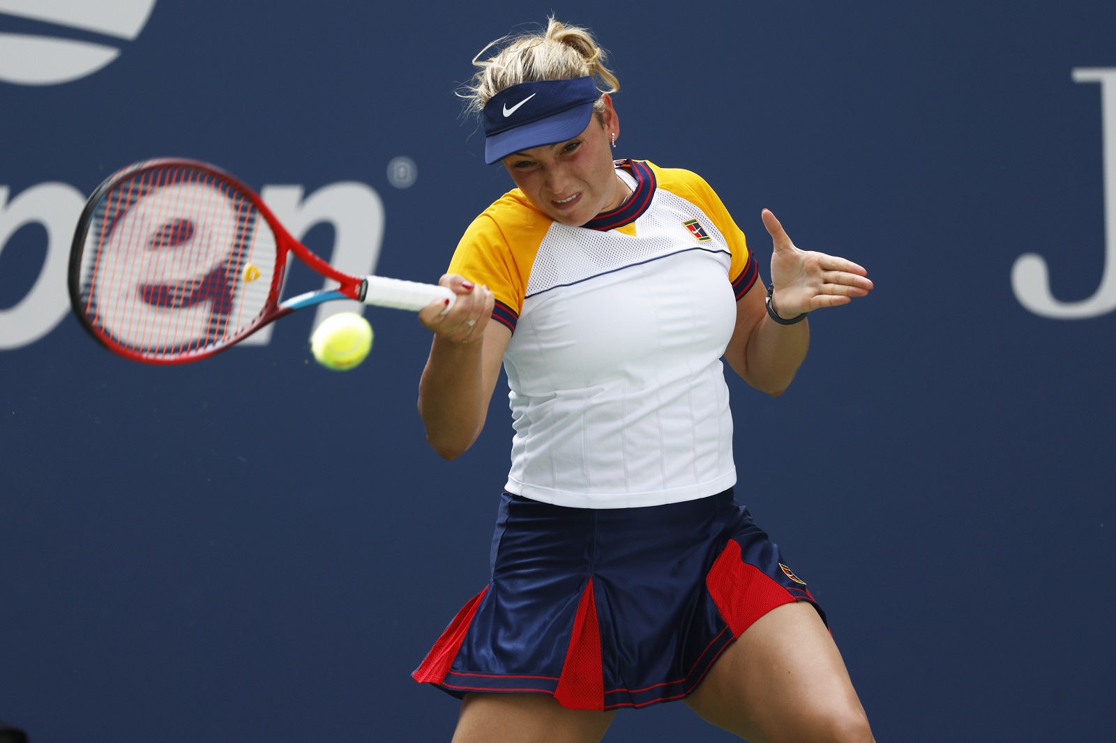
[[[699,176],[617,165],[634,193],[615,212],[571,228],[511,191],[450,266],[513,330],[506,489],[546,503],[658,505],[737,480],[720,358],[756,261]]]

